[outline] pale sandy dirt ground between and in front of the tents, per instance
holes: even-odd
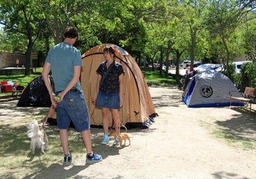
[[[217,129],[225,129],[255,144],[255,112],[233,107],[187,108],[176,87],[149,88],[159,117],[149,129],[129,130],[131,145],[95,145],[102,162],[87,165],[85,157],[73,156],[71,166],[57,161],[42,173],[24,178],[256,178],[256,150],[230,145],[215,135]],[[17,108],[16,103],[1,102],[0,122],[7,116],[29,117],[48,111]],[[102,129],[91,131],[92,142],[100,143]]]

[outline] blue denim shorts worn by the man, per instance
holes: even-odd
[[[56,95],[59,92],[55,92]],[[73,122],[78,132],[90,129],[90,117],[83,92],[69,91],[64,99],[57,103],[57,128],[69,129]]]

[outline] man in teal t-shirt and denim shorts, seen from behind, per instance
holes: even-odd
[[[43,66],[43,80],[50,94],[52,106],[57,108],[57,128],[64,151],[64,165],[72,161],[69,152],[69,124],[72,121],[76,130],[81,133],[87,150],[86,163],[100,162],[101,155],[92,152],[90,119],[87,103],[80,85],[79,77],[82,64],[80,51],[73,47],[78,38],[78,31],[73,27],[66,28],[64,42],[55,45],[48,52]],[[55,92],[52,91],[48,74],[52,71]],[[55,99],[59,96],[59,99]]]

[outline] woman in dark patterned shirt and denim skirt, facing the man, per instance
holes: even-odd
[[[104,48],[104,59],[97,69],[97,90],[92,99],[95,106],[101,108],[103,119],[104,139],[101,144],[106,145],[109,142],[108,138],[108,110],[111,110],[111,115],[114,121],[115,131],[120,133],[120,117],[118,110],[122,108],[124,103],[124,69],[122,64],[115,62],[115,48],[112,45]],[[118,144],[115,140],[114,145]]]

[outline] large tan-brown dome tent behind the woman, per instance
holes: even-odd
[[[106,45],[97,45],[87,50],[82,55],[83,69],[81,71],[80,82],[88,104],[90,120],[92,125],[102,125],[101,109],[95,108],[92,104],[97,85],[97,68],[101,62],[104,62],[103,50]],[[124,106],[120,108],[121,124],[142,124],[149,118],[155,117],[155,107],[152,103],[148,85],[145,83],[143,73],[138,64],[131,55],[118,45],[115,60],[122,64],[125,70],[124,76]],[[109,113],[109,124],[112,122],[111,113]]]

